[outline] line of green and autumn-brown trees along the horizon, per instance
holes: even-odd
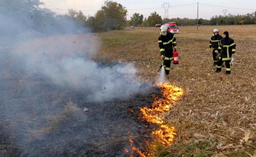
[[[177,25],[197,25],[197,19],[171,18],[167,19],[152,12],[147,18],[142,14],[134,13],[130,20],[126,20],[127,10],[120,3],[105,1],[104,6],[96,12],[95,16],[85,16],[82,11],[69,10],[68,16],[74,20],[82,21],[84,25],[90,27],[94,32],[121,30],[126,26],[155,26],[155,24],[165,24],[176,22]],[[212,16],[210,20],[198,19],[199,25],[246,25],[256,24],[256,11],[246,15]]]

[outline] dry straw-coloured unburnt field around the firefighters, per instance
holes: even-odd
[[[165,114],[177,128],[169,156],[256,155],[256,26],[218,26],[229,31],[237,47],[231,75],[214,72],[207,50],[215,26],[180,27],[176,34],[179,65],[171,65],[170,82],[185,90]],[[102,40],[93,56],[105,63],[132,62],[138,76],[155,82],[161,60],[159,28],[135,28],[96,34]]]

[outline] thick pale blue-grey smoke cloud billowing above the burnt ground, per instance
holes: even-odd
[[[133,65],[106,67],[90,61],[100,40],[89,29],[39,5],[39,1],[1,0],[2,47],[21,59],[23,71],[42,74],[62,87],[88,91],[90,101],[123,99],[145,91]]]

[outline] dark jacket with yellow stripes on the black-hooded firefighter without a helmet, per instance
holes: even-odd
[[[232,54],[236,52],[236,44],[232,38],[226,37],[220,41],[218,51],[222,61],[231,60]]]

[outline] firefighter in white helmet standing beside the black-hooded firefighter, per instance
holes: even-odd
[[[210,39],[210,44],[209,44],[209,51],[212,52],[214,66],[216,66],[218,62],[217,53],[218,53],[218,47],[221,39],[222,39],[222,36],[219,35],[219,29],[215,28],[213,30],[213,35]]]

